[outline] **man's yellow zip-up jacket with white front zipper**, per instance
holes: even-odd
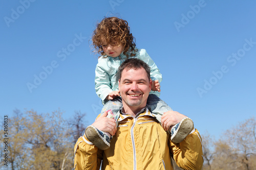
[[[201,169],[202,139],[197,130],[182,142],[170,141],[148,109],[132,115],[120,114],[115,136],[108,150],[99,150],[86,135],[74,147],[74,169],[173,169],[171,157],[183,169]]]

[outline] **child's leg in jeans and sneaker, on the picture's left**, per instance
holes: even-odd
[[[118,126],[119,110],[122,107],[122,99],[120,97],[107,102],[102,110],[101,114],[105,111],[108,112],[106,117],[116,120],[116,126]],[[110,147],[110,139],[112,136],[108,132],[102,132],[94,126],[89,126],[86,129],[86,137],[96,145],[100,150],[106,150]]]

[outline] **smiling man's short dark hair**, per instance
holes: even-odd
[[[123,69],[130,70],[130,69],[137,69],[137,68],[144,68],[146,70],[146,74],[148,77],[148,81],[150,81],[150,66],[147,65],[144,61],[137,59],[137,58],[130,58],[125,60],[118,68],[118,79],[121,79]]]

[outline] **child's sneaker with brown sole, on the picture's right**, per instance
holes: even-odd
[[[180,143],[193,129],[193,121],[190,118],[185,117],[170,130],[170,140],[175,143]]]

